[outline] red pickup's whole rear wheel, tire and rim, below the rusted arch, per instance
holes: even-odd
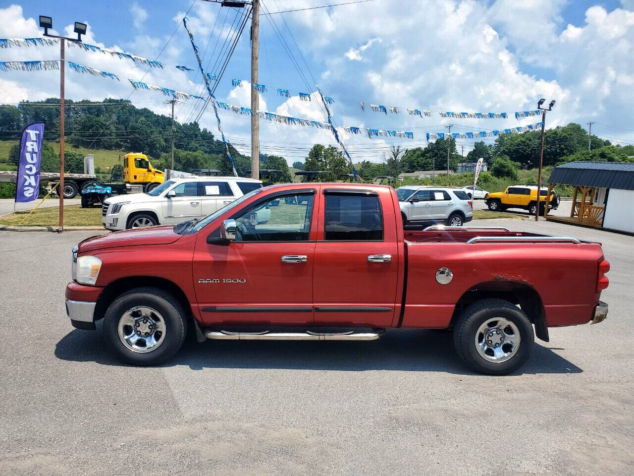
[[[535,337],[531,321],[508,301],[486,299],[467,307],[453,331],[460,359],[475,372],[506,375],[531,355]]]

